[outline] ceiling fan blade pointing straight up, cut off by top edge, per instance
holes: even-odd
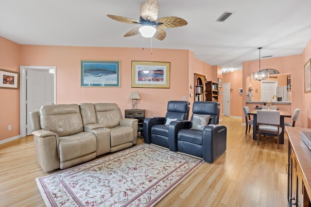
[[[159,15],[159,2],[157,0],[146,0],[140,5],[140,16],[149,21],[155,21]]]

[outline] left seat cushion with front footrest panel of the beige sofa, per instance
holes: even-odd
[[[91,132],[80,132],[71,136],[59,137],[58,148],[61,162],[80,158],[96,152],[96,136]]]

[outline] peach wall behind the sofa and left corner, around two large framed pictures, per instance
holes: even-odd
[[[141,48],[20,46],[4,38],[0,40],[1,45],[5,45],[5,50],[3,50],[4,47],[0,49],[1,54],[4,54],[4,51],[5,54],[10,54],[9,58],[7,55],[1,55],[0,65],[13,65],[12,68],[17,71],[19,71],[19,65],[56,66],[56,103],[116,102],[123,114],[124,109],[131,108],[131,100],[128,99],[128,96],[132,91],[138,91],[141,98],[138,100],[138,108],[146,109],[146,117],[164,116],[167,102],[169,100],[182,100],[183,96],[192,105],[193,98],[190,97],[189,92],[190,85],[193,84],[193,73],[205,75],[213,73],[209,64],[194,58],[193,52],[189,50],[154,48],[153,54],[151,54],[149,48],[142,50]],[[80,87],[81,60],[120,60],[121,87]],[[170,88],[131,88],[132,60],[170,62]],[[2,68],[11,67],[2,66]],[[1,133],[0,141],[19,135],[19,91],[10,90],[8,93],[9,95],[4,95],[9,96],[13,101],[8,103],[1,99],[1,109],[11,108],[9,110],[11,111],[10,117],[14,119],[12,128],[17,130],[12,130],[13,133],[10,134]],[[2,114],[8,116],[6,113],[2,112]],[[8,119],[1,122],[1,132],[7,129],[9,123],[11,124],[11,120]]]

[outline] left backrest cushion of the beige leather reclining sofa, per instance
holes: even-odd
[[[58,136],[69,136],[83,131],[83,122],[78,104],[52,104],[40,108],[42,129]]]

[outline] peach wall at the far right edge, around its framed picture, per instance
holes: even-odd
[[[307,47],[304,49],[302,53],[302,71],[303,71],[303,66],[307,63],[307,61],[311,58],[311,40],[309,41]],[[304,78],[304,73],[302,75]],[[302,80],[304,81],[304,79]],[[304,91],[304,85],[302,86],[302,91]],[[300,111],[300,114],[302,116],[303,120],[303,127],[305,128],[311,128],[311,93],[303,93],[303,102],[302,102],[302,110]]]

